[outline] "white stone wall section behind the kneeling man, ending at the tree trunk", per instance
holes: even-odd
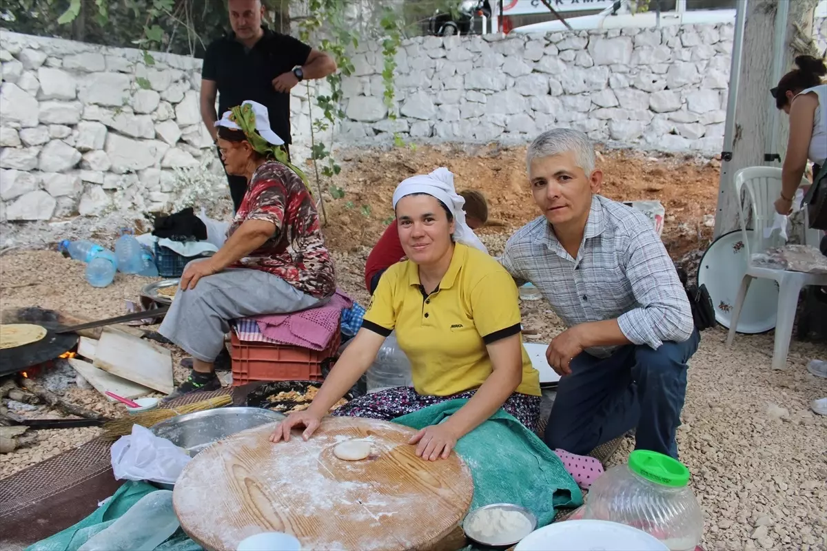
[[[648,150],[720,151],[733,26],[406,40],[399,119],[387,119],[379,44],[353,58],[342,135],[525,143],[552,126]],[[342,140],[339,140],[342,142]]]

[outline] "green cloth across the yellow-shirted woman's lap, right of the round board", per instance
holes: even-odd
[[[443,401],[394,422],[417,430],[437,425],[466,401]],[[474,478],[471,511],[490,503],[514,503],[532,511],[539,528],[554,519],[557,507],[583,504],[580,488],[557,454],[502,409],[463,436],[457,442],[457,454],[471,468]]]

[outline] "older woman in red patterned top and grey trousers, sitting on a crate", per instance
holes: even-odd
[[[193,356],[193,372],[175,395],[220,387],[213,362],[229,321],[319,306],[336,292],[318,212],[295,169],[278,162],[284,142],[270,130],[267,109],[244,102],[217,121],[227,173],[247,178],[247,191],[209,259],[187,264],[160,334]]]

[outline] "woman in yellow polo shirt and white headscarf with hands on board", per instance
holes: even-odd
[[[392,420],[469,398],[454,415],[411,440],[418,444],[418,456],[432,461],[447,458],[458,439],[500,407],[534,430],[539,375],[523,349],[517,287],[500,263],[480,250],[480,240],[466,225],[453,174],[442,168],[408,178],[396,188],[393,202],[408,260],[382,275],[361,330],[313,404],[282,421],[270,441],[289,439],[294,426],[304,426],[308,439],[394,329],[411,363],[414,387],[356,398],[334,416]]]

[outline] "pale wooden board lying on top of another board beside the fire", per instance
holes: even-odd
[[[118,330],[103,330],[93,365],[164,394],[174,389],[170,351]]]

